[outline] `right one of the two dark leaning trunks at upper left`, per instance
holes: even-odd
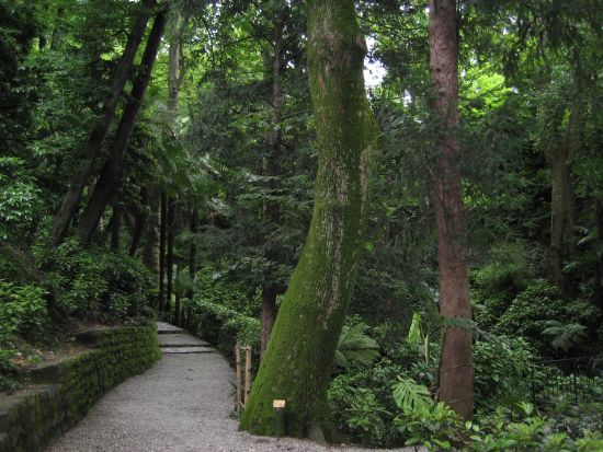
[[[88,202],[78,227],[78,233],[86,244],[90,243],[105,206],[120,182],[124,155],[129,143],[132,130],[134,129],[136,116],[140,109],[143,97],[145,96],[145,91],[149,84],[157,51],[161,44],[161,36],[166,27],[166,18],[167,12],[164,10],[161,10],[155,15],[155,22],[147,40],[140,67],[138,68],[138,73],[134,80],[127,105],[124,108],[122,120],[120,121],[120,126],[111,146],[110,160],[101,171],[99,181],[94,186],[94,193]]]

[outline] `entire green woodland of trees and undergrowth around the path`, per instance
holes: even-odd
[[[252,433],[602,451],[602,61],[600,0],[1,1],[1,390],[153,317]]]

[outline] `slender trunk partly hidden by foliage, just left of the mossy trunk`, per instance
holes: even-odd
[[[283,70],[283,57],[284,57],[284,38],[283,32],[285,27],[285,18],[283,12],[283,4],[277,7],[276,19],[274,22],[274,49],[272,55],[272,96],[271,105],[272,111],[270,115],[270,132],[268,135],[268,157],[264,159],[264,175],[277,176],[281,174],[280,159],[281,159],[281,142],[282,132],[281,121],[281,107],[283,105],[283,83],[281,72]],[[274,177],[270,179],[271,188],[274,189]],[[281,220],[281,213],[278,205],[275,202],[265,202],[264,211],[269,220],[277,224]],[[274,254],[274,253],[272,253]],[[268,255],[269,259],[274,260],[277,256]],[[264,287],[262,291],[262,306],[261,306],[261,334],[260,334],[260,358],[263,358],[268,341],[274,326],[274,320],[276,317],[276,295],[274,285],[271,287]]]

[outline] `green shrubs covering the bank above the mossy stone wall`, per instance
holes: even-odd
[[[41,240],[42,241],[42,240]],[[2,246],[0,267],[0,390],[19,387],[19,366],[56,349],[75,323],[132,323],[153,314],[156,290],[139,260],[69,240],[29,255]]]

